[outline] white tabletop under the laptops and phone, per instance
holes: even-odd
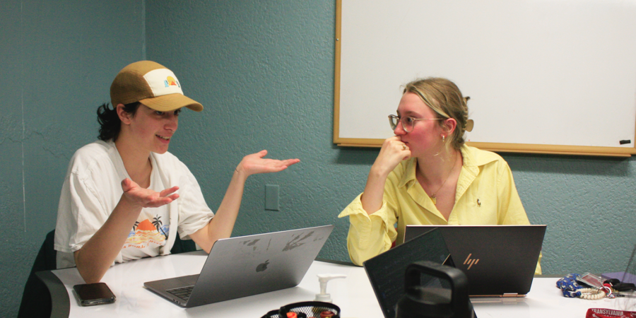
[[[64,284],[68,295],[69,317],[261,317],[269,310],[291,302],[313,300],[319,293],[317,274],[343,273],[347,278],[329,282],[327,293],[342,311],[342,317],[382,318],[382,311],[362,267],[314,261],[295,288],[218,302],[184,309],[146,290],[143,283],[162,278],[199,273],[206,260],[204,252],[192,252],[167,257],[140,259],[117,264],[109,269],[102,281],[107,283],[117,301],[110,305],[81,307],[72,293],[73,285],[83,283],[77,269],[52,271]],[[588,308],[627,309],[636,299],[581,300],[564,298],[555,287],[558,278],[534,278],[526,298],[473,298],[479,318],[485,317],[585,317]],[[240,282],[237,282],[240,283]],[[64,290],[59,288],[59,290]],[[49,284],[49,289],[51,289]],[[54,293],[63,293],[62,292]],[[66,297],[66,295],[63,295]],[[59,299],[53,297],[55,299]],[[626,304],[625,301],[629,303]],[[58,300],[58,302],[60,302]],[[62,301],[65,302],[65,301]],[[54,303],[56,307],[66,304]],[[632,307],[635,310],[636,307]]]

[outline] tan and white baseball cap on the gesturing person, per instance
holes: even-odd
[[[203,105],[183,95],[175,73],[153,61],[137,61],[119,71],[110,85],[110,101],[113,107],[141,102],[160,112],[181,107],[203,110]]]

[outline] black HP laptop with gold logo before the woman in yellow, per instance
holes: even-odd
[[[523,297],[530,291],[546,225],[407,225],[404,240],[438,228],[449,260],[469,278],[471,297]]]

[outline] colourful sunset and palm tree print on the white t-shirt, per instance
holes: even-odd
[[[165,245],[170,225],[164,225],[159,215],[152,216],[149,213],[141,213],[139,219],[142,218],[141,222],[138,220],[133,225],[126,242],[124,242],[124,249],[129,247],[145,249],[148,246]]]

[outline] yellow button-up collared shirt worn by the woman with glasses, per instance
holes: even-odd
[[[417,181],[416,158],[402,161],[389,174],[382,208],[375,213],[365,212],[362,194],[356,197],[338,216],[349,216],[347,247],[351,261],[361,265],[389,250],[393,242],[401,244],[406,225],[530,224],[508,163],[496,153],[470,146],[462,146],[461,155],[464,164],[448,220]],[[541,273],[540,263],[536,273]]]

